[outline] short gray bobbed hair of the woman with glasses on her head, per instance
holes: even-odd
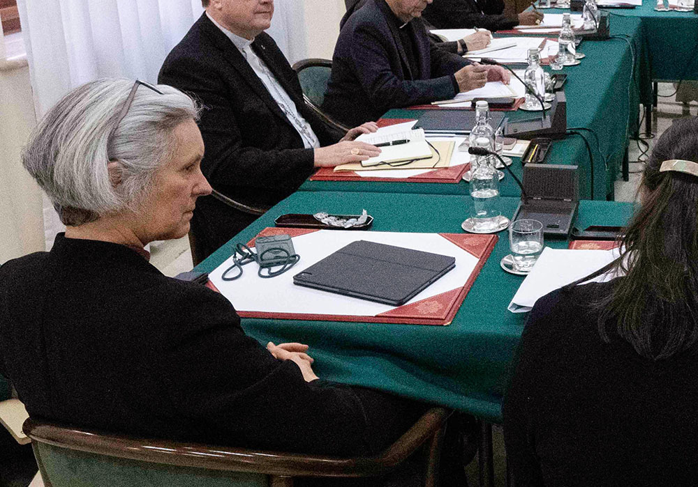
[[[75,88],[48,111],[22,151],[24,168],[66,225],[137,210],[156,170],[177,148],[174,127],[198,120],[196,102],[158,85],[163,95],[139,86],[119,122],[131,88],[133,79],[113,78]],[[118,184],[110,180],[111,161],[117,162]]]

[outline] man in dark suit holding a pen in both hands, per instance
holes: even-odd
[[[471,64],[429,42],[422,10],[433,0],[369,0],[339,33],[323,108],[357,125],[392,108],[509,82],[501,66]]]

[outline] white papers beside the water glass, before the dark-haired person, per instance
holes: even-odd
[[[618,249],[571,250],[545,247],[507,309],[512,313],[526,313],[540,297],[590,275],[618,258],[618,255]],[[602,282],[612,277],[603,275],[591,281]]]

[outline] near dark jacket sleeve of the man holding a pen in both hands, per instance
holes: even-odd
[[[383,42],[384,36],[373,31],[371,25],[364,24],[357,27],[351,46],[354,72],[364,91],[368,93],[371,104],[387,111],[393,107],[447,100],[456,95],[451,75],[416,81],[396,77],[390,68],[390,59]]]

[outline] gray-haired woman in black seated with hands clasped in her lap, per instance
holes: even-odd
[[[424,410],[319,380],[299,343],[266,347],[205,286],[144,245],[186,235],[204,145],[170,86],[102,79],[36,127],[24,167],[66,224],[50,252],[0,268],[0,373],[29,415],[160,438],[371,454]]]

